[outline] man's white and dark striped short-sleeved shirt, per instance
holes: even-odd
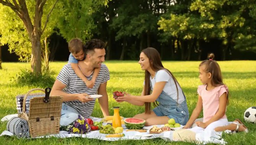
[[[94,72],[89,76],[86,77],[88,80],[92,79]],[[63,89],[66,93],[87,93],[88,95],[95,95],[98,92],[100,84],[107,82],[110,79],[109,69],[105,64],[101,64],[100,72],[96,78],[95,84],[93,88],[88,88],[84,81],[80,79],[75,71],[72,69],[70,64],[66,64],[63,66],[62,70],[57,76],[57,80],[62,82],[66,85],[66,87]],[[87,118],[92,114],[95,99],[92,101],[83,103],[81,101],[75,100],[75,101],[66,101],[64,102],[71,107],[75,108],[81,116]]]

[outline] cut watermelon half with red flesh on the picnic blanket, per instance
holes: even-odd
[[[142,129],[146,123],[143,119],[126,118],[123,120],[127,129]]]

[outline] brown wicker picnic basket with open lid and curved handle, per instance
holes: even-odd
[[[23,111],[19,117],[28,121],[31,137],[58,134],[60,132],[60,112],[62,108],[61,96],[50,96],[50,88],[32,89],[24,96],[24,100],[33,91],[45,92],[45,97],[30,99],[29,114],[26,114],[26,101],[23,101]]]

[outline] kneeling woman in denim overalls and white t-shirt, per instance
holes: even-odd
[[[166,124],[170,118],[185,125],[189,118],[185,95],[173,74],[162,65],[157,50],[146,48],[142,50],[139,58],[141,69],[145,71],[141,96],[133,96],[125,92],[125,96],[116,98],[116,101],[126,101],[138,106],[145,105],[145,113],[134,116],[146,120],[145,126]],[[156,106],[152,111],[151,102]]]

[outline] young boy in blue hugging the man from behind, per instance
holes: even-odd
[[[71,64],[72,69],[75,71],[78,77],[82,79],[88,88],[92,88],[94,86],[95,80],[99,74],[100,68],[96,68],[94,70],[94,74],[92,76],[91,81],[89,81],[86,76],[82,73],[78,66],[78,60],[84,60],[86,54],[83,48],[83,42],[79,38],[71,39],[68,42],[68,50],[70,51],[70,56],[68,58],[68,62]]]

